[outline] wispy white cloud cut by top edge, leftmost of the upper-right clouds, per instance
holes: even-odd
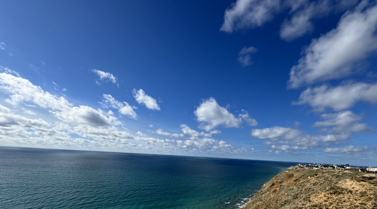
[[[261,26],[280,10],[279,0],[237,0],[225,10],[221,31]]]

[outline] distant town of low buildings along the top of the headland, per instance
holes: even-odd
[[[339,170],[344,170],[344,169],[355,169],[359,170],[360,172],[368,172],[368,173],[375,173],[377,172],[377,167],[371,167],[369,166],[368,168],[364,167],[351,167],[349,164],[345,163],[344,165],[337,165],[337,164],[326,164],[326,163],[299,163],[296,166],[291,166],[292,168],[307,168],[307,169],[339,169]]]

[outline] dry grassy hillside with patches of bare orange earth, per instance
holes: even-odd
[[[377,177],[359,171],[294,168],[266,182],[252,208],[377,208]]]

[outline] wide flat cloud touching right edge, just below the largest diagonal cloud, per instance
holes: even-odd
[[[337,87],[322,85],[307,88],[301,93],[299,101],[293,104],[308,104],[314,111],[324,111],[326,108],[339,111],[359,101],[377,103],[377,84],[348,82]]]

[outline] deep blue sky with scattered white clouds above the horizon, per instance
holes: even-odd
[[[0,145],[377,166],[377,3],[0,6]]]

